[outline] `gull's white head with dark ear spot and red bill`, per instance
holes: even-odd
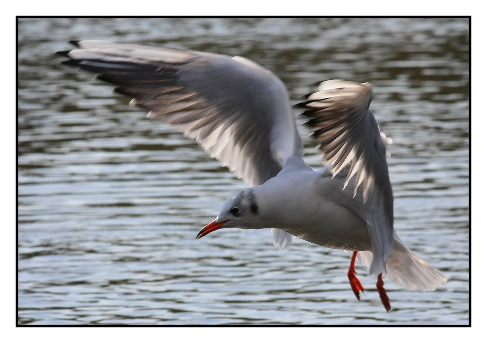
[[[240,191],[226,199],[218,216],[200,230],[196,239],[223,228],[262,228],[259,225],[259,206],[252,188]]]

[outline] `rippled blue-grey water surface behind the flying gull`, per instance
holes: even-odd
[[[19,324],[468,324],[468,19],[19,19]],[[268,230],[196,241],[245,185],[192,141],[59,66],[68,39],[166,44],[264,65],[293,102],[315,82],[372,82],[395,228],[449,283],[408,291],[349,255]],[[298,113],[298,112],[297,112]],[[300,127],[305,137],[307,131]],[[320,168],[306,140],[306,161]]]

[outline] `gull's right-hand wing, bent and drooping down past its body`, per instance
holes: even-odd
[[[360,202],[346,202],[367,222],[374,253],[370,273],[378,274],[385,270],[393,247],[393,193],[384,145],[389,139],[379,131],[369,108],[371,100],[372,87],[367,83],[329,80],[319,83],[318,91],[300,106],[325,164],[333,166],[334,177],[344,179],[343,194],[349,194],[349,181],[355,184],[350,197],[356,198],[361,189]]]

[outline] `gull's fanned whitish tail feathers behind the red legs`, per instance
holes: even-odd
[[[402,244],[397,235],[394,236],[393,251],[386,262],[387,271],[382,276],[398,286],[410,290],[417,288],[421,292],[433,291],[446,284],[448,279],[442,272],[420,259]],[[369,267],[372,251],[358,251],[357,260]]]

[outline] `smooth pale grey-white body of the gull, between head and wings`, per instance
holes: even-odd
[[[335,179],[318,171],[279,176],[254,187],[266,227],[327,248],[371,249],[367,223],[337,197],[343,184],[340,188]]]

